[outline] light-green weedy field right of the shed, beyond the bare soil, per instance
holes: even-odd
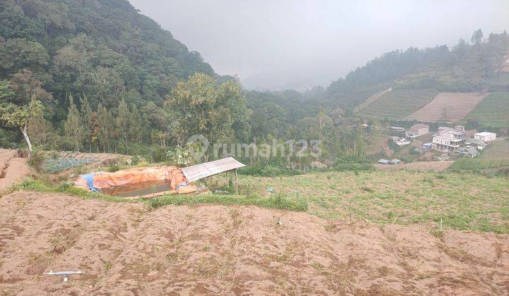
[[[324,218],[374,223],[440,222],[445,228],[509,233],[508,179],[468,173],[419,171],[327,172],[247,178],[298,195]],[[241,182],[247,182],[241,179]]]

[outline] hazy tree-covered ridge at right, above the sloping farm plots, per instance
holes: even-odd
[[[509,73],[502,70],[509,52],[506,32],[484,36],[476,30],[469,42],[391,51],[351,71],[327,88],[329,102],[351,108],[387,87],[440,92],[508,91]]]

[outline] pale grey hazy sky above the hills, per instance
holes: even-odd
[[[509,31],[509,0],[129,0],[247,88],[327,86],[386,51]]]

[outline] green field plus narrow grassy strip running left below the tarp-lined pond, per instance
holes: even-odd
[[[13,190],[139,202],[153,209],[168,204],[234,204],[308,211],[324,218],[361,218],[380,224],[438,223],[442,219],[444,228],[509,233],[507,178],[452,172],[331,171],[279,178],[240,175],[239,181],[241,195],[238,196],[166,195],[138,200],[85,192],[69,183],[50,185],[40,180],[25,180]],[[274,192],[261,187],[271,187]]]

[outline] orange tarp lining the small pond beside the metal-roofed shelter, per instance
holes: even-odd
[[[177,166],[160,166],[151,168],[129,168],[115,173],[94,173],[93,187],[108,190],[117,186],[148,184],[153,182],[166,183],[175,193],[195,192],[194,185],[187,184],[187,178]],[[187,184],[180,186],[181,184]],[[78,178],[75,185],[88,190],[88,184],[83,178]],[[177,189],[178,187],[178,189]]]

